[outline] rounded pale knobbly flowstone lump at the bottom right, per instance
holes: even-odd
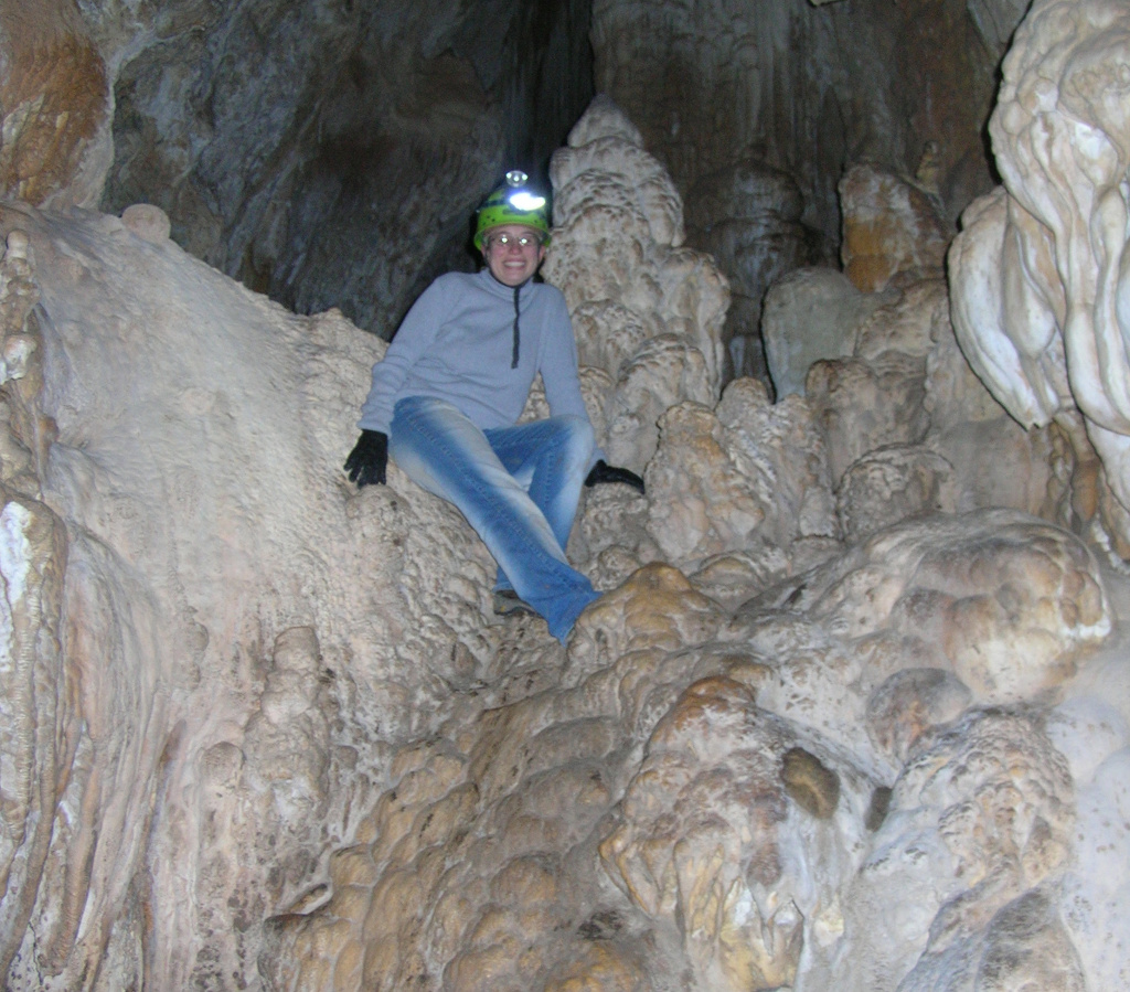
[[[1086,987],[1050,902],[1072,820],[1066,763],[1029,719],[971,712],[930,736],[845,899],[860,954],[842,987]]]

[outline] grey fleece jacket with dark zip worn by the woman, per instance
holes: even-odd
[[[554,416],[588,419],[577,381],[576,341],[565,297],[555,286],[527,282],[519,291],[518,364],[514,290],[488,269],[449,272],[408,311],[384,358],[357,426],[389,433],[405,397],[447,400],[481,429],[511,427],[541,374]]]

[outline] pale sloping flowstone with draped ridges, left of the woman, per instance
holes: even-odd
[[[23,451],[3,463],[10,575],[28,576],[8,602],[41,618],[25,637],[54,617],[28,642],[35,664],[5,669],[18,719],[43,728],[5,757],[43,783],[6,775],[23,797],[5,808],[6,870],[25,877],[5,913],[25,923],[6,928],[5,960],[59,987],[104,957],[139,967],[128,906],[150,864],[155,890],[177,895],[162,899],[149,980],[253,974],[254,949],[216,934],[308,888],[328,853],[315,838],[357,810],[331,782],[418,732],[442,687],[489,656],[488,558],[438,502],[350,498],[338,481],[374,339],[286,314],[115,218],[7,209],[3,229],[6,316],[23,316],[6,348],[29,356],[6,373],[7,450]],[[16,306],[28,278],[34,312]],[[336,414],[304,418],[313,407]],[[436,566],[445,534],[462,566]],[[433,663],[400,665],[398,650]]]

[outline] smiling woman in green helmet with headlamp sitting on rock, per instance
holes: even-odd
[[[565,643],[598,593],[565,557],[581,485],[643,479],[608,465],[581,398],[565,297],[533,277],[549,243],[544,197],[507,173],[478,210],[486,268],[436,279],[405,316],[345,463],[358,487],[384,484],[388,455],[453,503],[498,563],[495,610],[527,609]],[[518,424],[541,375],[550,417]]]

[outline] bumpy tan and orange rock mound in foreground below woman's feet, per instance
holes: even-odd
[[[1046,595],[1006,612],[1036,560]],[[273,980],[957,990],[1000,987],[964,971],[996,956],[1084,987],[1054,895],[1068,762],[1037,712],[985,704],[1054,691],[1102,639],[1090,555],[1028,517],[955,517],[773,599],[728,611],[660,565],[606,595],[553,688],[397,759],[331,900],[279,921]]]

